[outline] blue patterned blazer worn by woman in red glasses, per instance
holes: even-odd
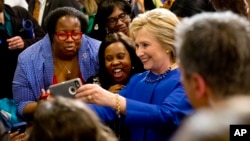
[[[84,80],[97,73],[99,69],[98,50],[100,41],[87,35],[82,37],[78,53],[81,75]],[[13,97],[17,102],[18,114],[30,102],[37,101],[41,89],[47,90],[53,82],[54,64],[51,42],[48,35],[24,50],[18,57],[13,79]]]

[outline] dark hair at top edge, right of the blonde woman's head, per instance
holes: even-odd
[[[215,11],[210,0],[175,0],[170,11],[178,17],[191,17],[204,11]]]

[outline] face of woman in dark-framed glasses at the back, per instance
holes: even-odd
[[[131,19],[129,15],[115,6],[113,12],[107,19],[107,28],[113,33],[123,32],[124,34],[128,35],[130,20]]]

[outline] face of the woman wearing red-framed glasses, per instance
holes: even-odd
[[[54,54],[65,59],[76,56],[82,40],[73,39],[72,34],[74,36],[75,33],[81,32],[80,21],[76,17],[63,16],[58,20],[55,31],[59,34],[67,33],[69,37],[63,41],[56,34],[53,36],[52,48]]]

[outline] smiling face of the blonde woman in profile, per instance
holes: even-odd
[[[170,59],[164,47],[150,32],[141,28],[136,34],[135,42],[136,54],[142,61],[144,69],[151,70],[155,74],[166,71]]]

